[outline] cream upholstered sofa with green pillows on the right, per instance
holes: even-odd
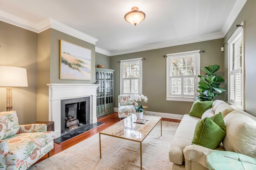
[[[215,150],[238,152],[256,158],[256,118],[234,109],[222,100],[216,100],[212,108],[202,115],[211,117],[219,112],[224,117],[226,136]],[[199,145],[191,145],[198,117],[184,115],[171,142],[169,160],[172,170],[207,170],[206,156],[214,151]]]

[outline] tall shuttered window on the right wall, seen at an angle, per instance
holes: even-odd
[[[240,25],[243,25],[243,23]],[[243,27],[238,27],[228,40],[228,63],[228,102],[244,109]]]

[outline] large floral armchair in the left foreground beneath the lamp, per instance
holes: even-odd
[[[0,113],[0,170],[26,170],[53,149],[46,124],[19,125],[16,111]]]

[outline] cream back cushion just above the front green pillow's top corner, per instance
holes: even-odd
[[[221,112],[224,118],[228,113],[233,111],[234,108],[222,100],[215,100],[212,104],[212,110],[214,111],[215,114]]]

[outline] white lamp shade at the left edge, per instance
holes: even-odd
[[[1,87],[27,87],[28,78],[26,68],[0,66]]]

